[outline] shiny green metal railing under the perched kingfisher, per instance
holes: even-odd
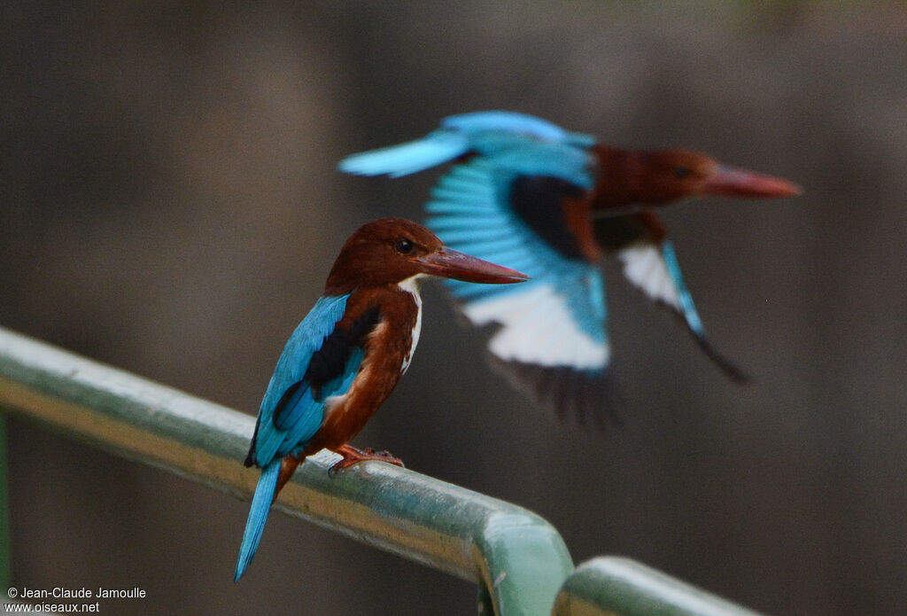
[[[258,481],[258,471],[241,464],[251,416],[3,328],[0,408],[242,499]],[[330,477],[336,459],[329,452],[309,457],[275,508],[477,583],[480,612],[754,615],[626,559],[574,570],[561,535],[535,513],[380,462]]]

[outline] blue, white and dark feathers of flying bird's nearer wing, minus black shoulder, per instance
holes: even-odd
[[[564,161],[547,154],[544,158]],[[571,160],[572,169],[551,171],[551,177],[563,180],[584,172],[583,157]],[[495,156],[473,159],[444,176],[427,207],[433,216],[426,225],[451,248],[519,268],[532,280],[509,288],[453,280],[445,284],[474,325],[497,326],[488,343],[493,364],[537,403],[562,415],[588,414],[599,405],[599,412],[608,414],[614,410],[614,396],[580,399],[605,389],[588,383],[605,380],[610,362],[600,271],[584,259],[565,257],[522,219],[508,199],[523,168],[509,159],[500,166],[498,162]],[[527,169],[539,166],[532,163]],[[452,178],[455,181],[449,181]],[[564,183],[564,191],[582,190]],[[551,202],[538,206],[560,213],[560,199],[561,193],[552,191]],[[494,222],[491,228],[489,220]],[[540,388],[539,382],[549,379],[561,385]],[[587,385],[566,385],[580,382]],[[557,395],[542,395],[551,390]]]

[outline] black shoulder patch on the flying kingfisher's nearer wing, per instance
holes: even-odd
[[[510,204],[522,221],[561,257],[585,260],[576,238],[564,224],[562,210],[565,197],[577,199],[583,192],[561,178],[518,175],[511,182]]]

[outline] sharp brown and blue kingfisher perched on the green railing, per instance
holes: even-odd
[[[325,292],[289,337],[268,383],[247,466],[260,466],[235,580],[246,571],[268,510],[297,466],[321,449],[343,459],[401,464],[347,442],[381,406],[413,358],[422,328],[418,280],[437,276],[508,284],[528,277],[446,248],[410,220],[369,222],[346,240]]]

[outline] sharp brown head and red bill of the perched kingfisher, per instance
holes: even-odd
[[[529,279],[514,269],[446,248],[412,220],[383,218],[366,223],[346,240],[327,276],[325,295],[395,285],[420,275],[488,284]]]

